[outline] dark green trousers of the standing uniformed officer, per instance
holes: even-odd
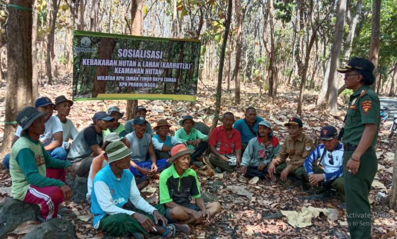
[[[345,151],[343,155],[346,218],[352,239],[368,239],[371,237],[371,205],[368,193],[378,171],[378,159],[375,150],[366,151],[360,158],[358,172],[351,174],[346,170],[346,164],[353,153],[354,151]]]

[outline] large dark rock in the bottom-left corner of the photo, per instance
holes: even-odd
[[[0,239],[15,230],[22,222],[36,221],[40,214],[37,204],[22,202],[14,198],[0,204]]]

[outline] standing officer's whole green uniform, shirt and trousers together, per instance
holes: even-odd
[[[361,86],[350,96],[343,135],[345,148],[343,174],[345,177],[347,220],[352,239],[371,237],[371,206],[368,201],[368,193],[378,170],[374,146],[377,143],[380,126],[379,112],[378,95],[369,85]],[[360,158],[358,172],[351,174],[346,170],[346,164],[360,142],[365,124],[375,124],[378,126],[378,130],[370,147]]]

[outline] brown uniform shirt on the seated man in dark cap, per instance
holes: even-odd
[[[294,171],[299,167],[303,167],[305,159],[314,148],[313,139],[304,133],[301,133],[295,141],[291,136],[288,136],[281,146],[280,153],[272,160],[272,163],[277,166],[280,163],[286,162],[287,158],[290,158],[290,161],[287,161],[287,168],[290,171]]]

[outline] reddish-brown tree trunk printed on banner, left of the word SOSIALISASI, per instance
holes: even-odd
[[[111,59],[111,55],[115,50],[117,40],[115,38],[104,37],[101,40],[101,46],[98,49],[99,59]],[[94,78],[94,87],[92,89],[92,98],[98,96],[98,94],[106,93],[106,80],[97,80],[97,76],[107,75],[109,72],[108,66],[97,66]]]

